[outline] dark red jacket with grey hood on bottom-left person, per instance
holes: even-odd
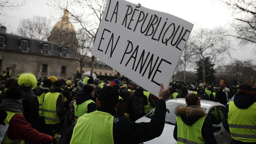
[[[18,100],[4,99],[0,109],[10,112],[22,113],[22,105]],[[51,144],[52,137],[42,134],[32,128],[30,123],[26,122],[23,114],[15,114],[9,122],[7,136],[10,140],[25,140],[39,144]]]

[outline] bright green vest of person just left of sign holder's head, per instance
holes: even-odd
[[[83,102],[82,104],[76,104],[76,102],[74,102],[74,112],[75,112],[75,120],[77,121],[77,119],[84,115],[84,114],[87,114],[88,113],[88,109],[87,109],[87,106],[88,104],[90,103],[94,103],[95,102],[93,100],[86,100],[85,102]]]

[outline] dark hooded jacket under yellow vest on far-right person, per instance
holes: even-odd
[[[234,104],[236,105],[236,107],[241,109],[249,108],[252,104],[254,104],[254,102],[256,102],[256,100],[254,98],[253,92],[251,91],[239,91],[234,96]],[[225,130],[230,133],[230,130],[228,127],[228,111],[229,111],[228,106],[229,105],[227,104],[222,124]],[[243,118],[243,119],[246,119],[246,118]],[[247,143],[241,142],[239,140],[235,140],[232,138],[232,144],[247,144]]]

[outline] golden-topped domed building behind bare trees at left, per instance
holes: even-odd
[[[68,46],[74,54],[77,54],[78,40],[76,38],[76,30],[69,21],[67,8],[64,10],[62,20],[54,25],[48,41]]]

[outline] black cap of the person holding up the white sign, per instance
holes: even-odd
[[[110,102],[110,103],[118,102],[119,101],[118,90],[112,86],[104,86],[100,90],[98,99],[101,102]]]

